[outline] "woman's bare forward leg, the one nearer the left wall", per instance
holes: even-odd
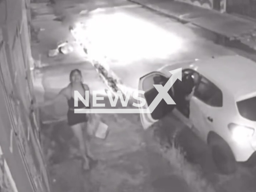
[[[86,156],[86,147],[85,147],[85,143],[84,143],[82,127],[83,127],[83,124],[76,124],[76,125],[71,126],[71,128],[74,132],[74,135],[78,139],[79,148],[80,148],[81,154],[85,161],[84,169],[88,169],[89,168],[89,159]]]

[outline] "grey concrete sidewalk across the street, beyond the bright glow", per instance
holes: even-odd
[[[256,50],[256,22],[170,0],[129,0],[180,22],[192,23],[228,40],[239,40]]]

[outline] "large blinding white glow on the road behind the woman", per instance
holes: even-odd
[[[178,36],[124,13],[100,14],[76,28],[78,38],[90,40],[90,55],[118,61],[166,58],[182,48]],[[121,64],[121,63],[120,63]]]

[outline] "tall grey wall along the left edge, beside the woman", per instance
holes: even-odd
[[[0,187],[9,181],[18,192],[49,192],[40,126],[30,111],[34,96],[28,3],[0,1],[0,178],[6,169],[1,162],[11,173],[6,182],[0,180]]]

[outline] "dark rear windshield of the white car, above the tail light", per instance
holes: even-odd
[[[248,120],[256,121],[256,97],[236,103],[240,115]]]

